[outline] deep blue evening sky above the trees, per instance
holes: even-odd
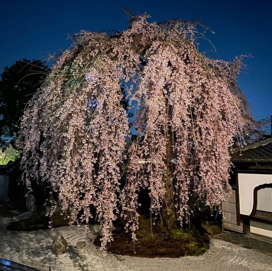
[[[248,73],[239,86],[254,108],[256,119],[272,115],[271,30],[272,1],[1,1],[0,73],[15,60],[47,59],[70,45],[68,33],[126,28],[123,7],[147,12],[157,22],[173,18],[200,18],[215,34],[209,34],[217,53],[209,56],[231,60],[241,53]],[[212,50],[205,40],[201,49]]]

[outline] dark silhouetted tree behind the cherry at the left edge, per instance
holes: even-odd
[[[23,59],[6,66],[0,81],[0,147],[13,144],[19,132],[20,117],[49,73],[45,62]]]

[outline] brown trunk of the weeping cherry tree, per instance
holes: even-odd
[[[167,171],[165,173],[164,183],[166,188],[165,201],[162,203],[161,219],[163,227],[167,229],[177,228],[177,218],[176,211],[174,208],[174,194],[173,194],[173,181],[172,181],[172,170],[171,170],[171,160],[172,160],[172,137],[170,133],[170,127],[168,129],[168,141],[166,144],[166,166]]]

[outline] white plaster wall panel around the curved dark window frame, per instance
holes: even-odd
[[[251,214],[254,188],[265,183],[272,183],[272,174],[238,173],[240,214]]]

